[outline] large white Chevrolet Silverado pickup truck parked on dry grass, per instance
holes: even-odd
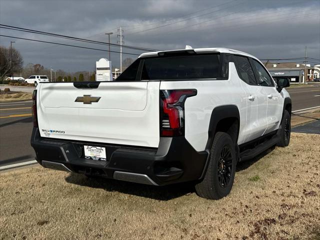
[[[254,56],[226,48],[141,54],[114,81],[39,84],[31,145],[44,167],[219,199],[238,161],[290,139],[291,100]]]

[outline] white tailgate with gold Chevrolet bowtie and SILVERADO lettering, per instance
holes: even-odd
[[[100,82],[97,88],[76,88],[72,82],[39,84],[40,135],[157,147],[159,84],[156,81],[110,81]],[[79,101],[75,101],[77,97]],[[97,99],[94,97],[100,98],[94,102]]]

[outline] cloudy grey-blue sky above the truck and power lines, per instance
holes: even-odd
[[[153,49],[228,47],[260,59],[320,58],[320,0],[0,0],[0,24],[107,42],[105,32],[123,28],[124,44]],[[107,49],[0,28],[0,34]],[[24,64],[66,71],[93,70],[108,52],[0,36],[22,53]],[[119,40],[119,39],[118,39]],[[118,47],[111,50],[119,51]],[[123,48],[125,53],[141,50]],[[135,55],[123,54],[135,58]],[[111,53],[119,66],[119,53]],[[310,62],[313,64],[312,62]]]

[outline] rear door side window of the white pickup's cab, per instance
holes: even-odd
[[[233,55],[233,62],[238,76],[249,85],[257,85],[253,73],[253,69],[247,57]]]

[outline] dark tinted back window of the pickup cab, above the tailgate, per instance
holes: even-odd
[[[220,55],[191,55],[146,58],[141,80],[220,78]]]

